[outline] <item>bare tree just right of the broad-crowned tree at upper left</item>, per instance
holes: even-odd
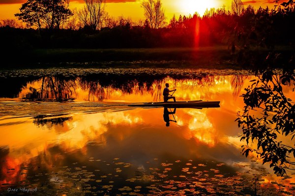
[[[84,26],[93,30],[102,28],[107,13],[105,11],[106,0],[84,0],[85,5],[77,12],[78,18]]]

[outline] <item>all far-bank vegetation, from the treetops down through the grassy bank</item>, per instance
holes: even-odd
[[[58,0],[57,7],[43,3],[43,11],[34,9],[34,3],[35,0],[28,0],[16,14],[25,22],[26,28],[21,28],[14,20],[1,21],[2,66],[7,67],[7,63],[10,66],[137,60],[192,60],[197,65],[209,62],[249,66],[263,61],[261,54],[267,56],[269,51],[279,52],[287,58],[293,55],[295,28],[290,25],[295,18],[293,1],[277,2],[274,9],[255,10],[233,0],[231,10],[225,7],[209,9],[202,17],[198,13],[174,16],[169,23],[163,20],[165,13],[161,1],[155,0],[150,0],[150,7],[145,4],[144,8],[145,13],[148,8],[152,9],[152,14],[145,14],[146,20],[139,22],[123,16],[109,16],[104,9],[104,0],[86,0],[82,10],[73,11],[68,9],[66,0]],[[98,6],[91,8],[95,3]],[[40,15],[44,10],[46,14]],[[96,15],[90,14],[91,11]],[[154,14],[161,19],[156,20]],[[277,46],[284,46],[284,50],[280,51]],[[211,49],[206,51],[207,47]],[[153,50],[155,48],[164,49]],[[167,48],[170,48],[169,54]],[[201,52],[195,48],[201,48]]]

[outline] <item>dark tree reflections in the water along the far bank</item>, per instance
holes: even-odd
[[[81,89],[87,93],[87,101],[103,101],[111,99],[112,95],[119,93],[122,95],[150,94],[152,101],[157,102],[163,101],[162,90],[165,83],[181,87],[185,91],[194,91],[198,87],[201,91],[207,92],[216,84],[227,84],[228,77],[204,75],[191,79],[187,76],[90,74],[68,78],[59,75],[27,81],[29,93],[23,95],[22,99],[24,101],[69,101],[75,99],[78,96],[78,90]],[[247,79],[247,76],[237,75],[232,78],[235,96],[240,92],[244,79]],[[179,94],[179,96],[181,95]],[[182,99],[191,98],[189,93],[185,93],[183,96]]]

